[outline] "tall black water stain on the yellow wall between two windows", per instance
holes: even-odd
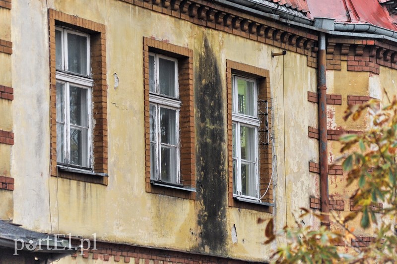
[[[195,72],[197,129],[197,200],[201,250],[221,253],[226,241],[226,141],[219,64],[206,37]],[[226,73],[224,73],[226,74]]]

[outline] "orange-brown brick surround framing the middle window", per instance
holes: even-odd
[[[150,183],[149,52],[178,59],[179,98],[182,102],[179,114],[181,183],[184,187],[196,188],[193,51],[153,38],[143,37],[146,192],[194,200],[196,199],[195,192],[175,189],[171,186],[170,188],[156,186]]]

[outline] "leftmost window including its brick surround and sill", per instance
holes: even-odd
[[[48,14],[51,175],[107,185],[105,25]]]

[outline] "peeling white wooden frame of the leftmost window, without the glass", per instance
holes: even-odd
[[[81,170],[91,170],[93,169],[93,146],[92,146],[92,86],[93,86],[93,79],[91,77],[91,61],[90,61],[90,36],[88,34],[84,34],[78,31],[73,31],[66,28],[56,27],[56,30],[61,31],[61,42],[62,42],[62,69],[56,69],[56,82],[57,83],[64,83],[64,160],[57,162],[61,166],[66,167],[75,167]],[[87,75],[82,75],[79,73],[69,72],[68,71],[68,62],[67,59],[67,33],[76,34],[80,36],[84,36],[87,38]],[[87,166],[71,164],[70,162],[70,126],[78,127],[77,125],[70,124],[70,85],[77,86],[79,88],[85,89],[87,91],[87,155],[85,157],[85,162]],[[57,123],[58,120],[57,120]],[[84,158],[84,157],[83,157]],[[82,162],[83,164],[85,162]]]

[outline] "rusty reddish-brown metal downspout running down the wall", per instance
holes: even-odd
[[[326,37],[319,36],[318,78],[319,93],[319,148],[320,148],[320,200],[324,213],[322,225],[330,227],[330,202],[328,193],[328,152],[327,152],[327,83],[326,83]]]

